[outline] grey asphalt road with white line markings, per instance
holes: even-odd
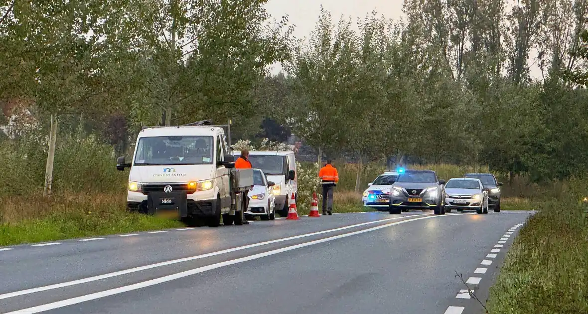
[[[486,300],[529,215],[352,213],[0,248],[0,313],[482,313],[467,289]]]

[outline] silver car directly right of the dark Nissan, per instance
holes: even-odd
[[[443,207],[450,213],[453,209],[473,209],[477,213],[488,213],[488,189],[480,179],[453,178],[443,187]]]

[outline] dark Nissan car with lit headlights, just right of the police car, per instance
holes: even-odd
[[[390,189],[389,212],[399,214],[403,210],[433,209],[435,215],[443,215],[441,194],[445,181],[439,180],[432,170],[407,170],[400,173]]]

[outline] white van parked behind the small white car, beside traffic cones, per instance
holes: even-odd
[[[241,152],[233,151],[239,158]],[[261,169],[272,186],[275,208],[280,216],[288,216],[289,199],[298,192],[296,158],[293,151],[250,151],[249,161],[253,168]]]

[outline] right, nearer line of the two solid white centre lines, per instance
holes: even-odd
[[[463,213],[460,215],[471,215],[471,214]],[[445,216],[447,216],[447,215],[445,215]],[[45,305],[39,305],[39,306],[35,306],[33,308],[28,308],[28,309],[16,310],[14,312],[9,312],[9,313],[4,313],[4,314],[33,314],[33,313],[44,312],[46,310],[63,308],[64,306],[74,305],[74,304],[86,302],[89,300],[104,298],[105,296],[111,296],[111,295],[116,295],[116,294],[123,293],[123,292],[128,292],[131,290],[141,289],[141,288],[157,285],[159,283],[168,282],[168,281],[179,279],[179,278],[184,278],[186,276],[196,275],[197,273],[206,272],[208,270],[217,269],[217,268],[221,268],[221,267],[229,266],[229,265],[234,265],[237,263],[247,262],[249,260],[259,259],[259,258],[263,258],[265,256],[275,255],[275,254],[282,253],[282,252],[288,252],[288,251],[294,250],[294,249],[305,248],[306,246],[310,246],[310,245],[315,245],[315,244],[319,244],[319,243],[323,243],[323,242],[329,242],[329,241],[336,240],[336,239],[347,238],[349,236],[359,235],[362,233],[376,231],[376,230],[383,229],[383,228],[389,228],[391,226],[400,225],[400,224],[406,223],[406,222],[412,222],[412,221],[417,221],[417,220],[421,220],[421,219],[437,218],[437,217],[443,217],[443,216],[427,215],[425,217],[406,219],[404,221],[387,223],[386,225],[382,225],[382,226],[375,226],[375,227],[372,227],[369,229],[363,229],[360,231],[343,233],[342,235],[330,236],[329,238],[323,238],[323,239],[313,240],[310,242],[300,243],[297,245],[286,246],[285,248],[270,250],[268,252],[262,252],[262,253],[258,253],[258,254],[254,254],[254,255],[249,255],[249,256],[242,257],[242,258],[238,258],[238,259],[226,260],[225,262],[202,266],[199,268],[186,270],[184,272],[175,273],[173,275],[163,276],[161,278],[155,278],[155,279],[147,280],[144,282],[135,283],[133,285],[122,286],[122,287],[115,288],[115,289],[109,289],[109,290],[105,290],[105,291],[101,291],[101,292],[91,293],[89,295],[78,296],[76,298],[66,299],[66,300],[53,302],[53,303],[48,303]]]

